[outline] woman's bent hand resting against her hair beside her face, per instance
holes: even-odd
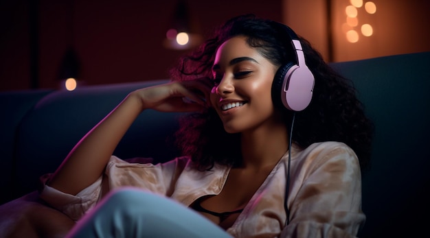
[[[141,100],[142,110],[150,108],[161,112],[192,112],[209,106],[211,88],[210,80],[199,78],[142,88],[130,96]]]

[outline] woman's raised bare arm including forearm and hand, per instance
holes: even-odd
[[[130,93],[73,147],[52,176],[49,186],[76,195],[102,175],[115,147],[143,110],[201,110],[205,101],[195,93],[196,90],[208,98],[210,86],[202,80],[196,80],[152,86]],[[196,103],[185,103],[184,97]]]

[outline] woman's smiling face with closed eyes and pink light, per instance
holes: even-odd
[[[271,86],[277,67],[246,38],[231,38],[216,51],[211,91],[214,106],[229,133],[246,132],[280,123],[271,99]]]

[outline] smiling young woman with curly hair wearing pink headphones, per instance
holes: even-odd
[[[130,93],[47,181],[41,198],[78,220],[71,237],[357,235],[372,123],[306,40],[238,16],[172,78]],[[146,109],[194,112],[177,133],[183,157],[111,156]]]

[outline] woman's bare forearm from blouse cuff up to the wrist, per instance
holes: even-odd
[[[140,112],[142,102],[131,94],[88,132],[49,180],[49,186],[76,195],[103,173],[106,164]]]

